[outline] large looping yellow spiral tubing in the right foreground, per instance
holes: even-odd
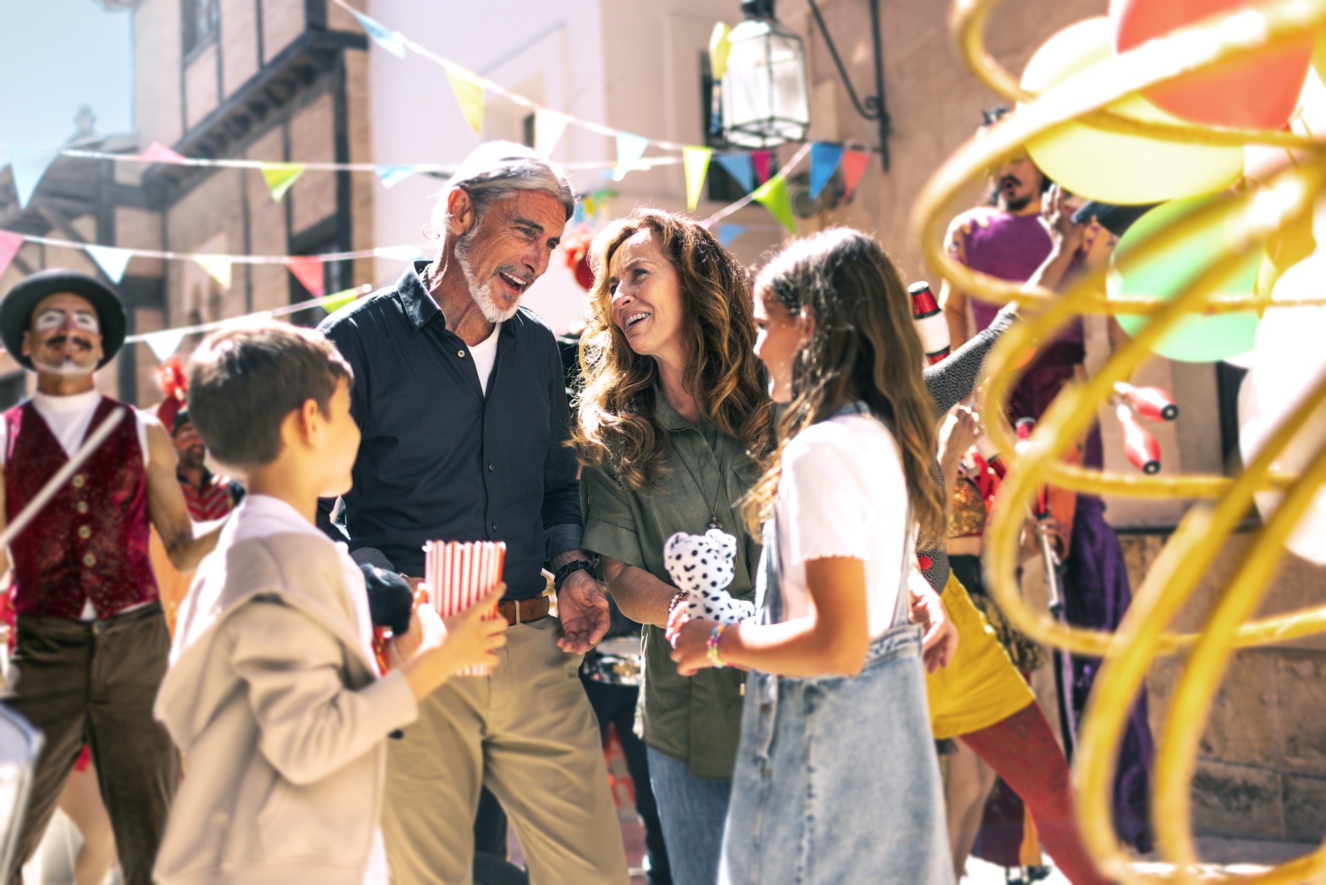
[[[1097,410],[1113,394],[1114,383],[1128,381],[1152,346],[1184,316],[1197,312],[1278,309],[1288,305],[1322,305],[1326,299],[1277,300],[1274,306],[1258,296],[1211,295],[1236,273],[1246,255],[1277,231],[1303,224],[1326,188],[1326,141],[1293,131],[1208,129],[1181,122],[1139,121],[1118,113],[1140,89],[1168,82],[1181,74],[1236,58],[1262,46],[1276,46],[1305,32],[1326,29],[1326,0],[1272,0],[1212,16],[1175,31],[1127,53],[1102,58],[1041,94],[1024,89],[983,45],[983,29],[997,0],[956,0],[949,19],[959,53],[979,78],[998,94],[1017,101],[1018,110],[991,127],[983,138],[960,147],[935,172],[912,212],[912,238],[926,261],[959,291],[976,297],[1024,305],[1026,321],[1009,330],[989,360],[984,414],[994,417],[989,433],[1005,452],[1013,452],[1012,430],[1004,421],[1004,403],[1020,377],[1022,357],[1040,340],[1082,313],[1148,314],[1152,321],[1126,342],[1090,381],[1070,385],[1052,403],[1029,444],[1016,456],[1004,483],[987,533],[985,569],[994,594],[1013,624],[1036,640],[1081,654],[1102,655],[1105,662],[1083,719],[1074,763],[1079,791],[1079,817],[1087,849],[1102,872],[1120,882],[1196,881],[1197,856],[1191,827],[1191,782],[1197,742],[1205,726],[1211,698],[1237,647],[1249,647],[1326,632],[1326,606],[1248,621],[1261,600],[1272,569],[1294,524],[1307,511],[1319,487],[1326,484],[1326,439],[1315,441],[1314,454],[1299,475],[1277,474],[1273,464],[1314,410],[1326,402],[1326,374],[1313,382],[1301,406],[1269,433],[1260,454],[1233,478],[1146,476],[1086,470],[1061,463],[1061,456],[1095,419]],[[1269,145],[1296,151],[1299,162],[1260,187],[1238,196],[1213,200],[1168,228],[1152,234],[1126,260],[1144,261],[1183,238],[1209,224],[1235,231],[1229,248],[1211,255],[1209,263],[1189,288],[1172,300],[1134,297],[1103,299],[1103,271],[1081,280],[1071,291],[1055,295],[1028,289],[976,273],[953,261],[943,248],[947,222],[967,184],[1024,145],[1062,131],[1065,123],[1090,123],[1093,129],[1207,147]],[[1126,268],[1127,265],[1123,264]],[[1298,446],[1302,439],[1297,441]],[[1021,598],[1016,567],[1018,533],[1041,483],[1090,494],[1147,498],[1200,498],[1183,519],[1151,568],[1115,633],[1070,628],[1046,613],[1030,609]],[[1248,508],[1253,494],[1284,492],[1280,507],[1257,533],[1237,564],[1197,634],[1167,633],[1167,626],[1192,594],[1203,572],[1225,545]],[[1154,821],[1158,848],[1171,873],[1144,873],[1128,862],[1114,833],[1110,787],[1118,744],[1132,702],[1151,661],[1159,654],[1187,655],[1166,728],[1160,735]],[[1326,847],[1299,860],[1256,876],[1227,876],[1228,881],[1284,884],[1323,881]],[[1203,881],[1209,881],[1204,878]]]

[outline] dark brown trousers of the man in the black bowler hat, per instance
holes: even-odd
[[[20,614],[0,702],[45,738],[28,797],[11,885],[36,852],[65,779],[86,743],[115,832],[126,885],[150,885],[179,782],[179,754],[152,718],[170,661],[160,604],[105,621]]]

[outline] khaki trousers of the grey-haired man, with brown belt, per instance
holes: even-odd
[[[488,677],[453,677],[389,740],[382,835],[395,885],[471,885],[480,785],[507,809],[533,885],[625,885],[598,723],[557,647],[557,618],[520,624]]]

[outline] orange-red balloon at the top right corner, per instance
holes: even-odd
[[[1114,49],[1126,52],[1249,0],[1110,0]],[[1211,126],[1280,129],[1289,122],[1307,78],[1313,34],[1197,70],[1142,94],[1175,117]]]

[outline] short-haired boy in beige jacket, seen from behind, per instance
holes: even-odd
[[[379,675],[363,575],[314,528],[350,488],[354,378],[320,333],[219,332],[194,353],[188,407],[249,495],[179,614],[156,718],[183,751],[163,885],[386,885],[378,817],[387,734],[457,669],[495,665],[505,620],[419,606]]]

